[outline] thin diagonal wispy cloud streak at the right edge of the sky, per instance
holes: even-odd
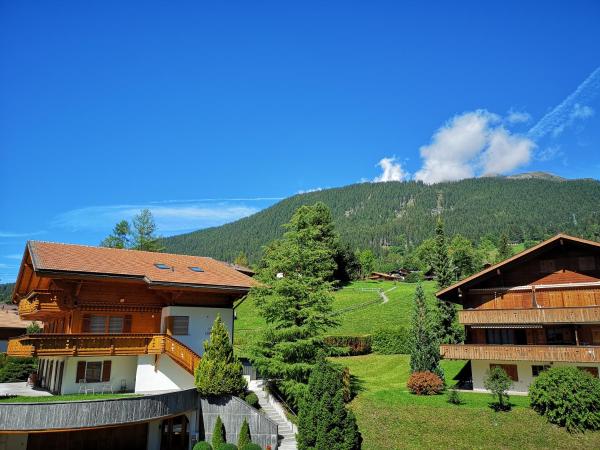
[[[547,134],[556,137],[577,120],[587,119],[594,111],[585,103],[600,92],[600,67],[596,68],[567,98],[542,117],[528,132],[531,139],[539,140]]]

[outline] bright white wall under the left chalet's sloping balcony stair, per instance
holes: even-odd
[[[173,391],[194,387],[194,377],[168,355],[160,355],[157,367],[154,365],[154,355],[142,355],[137,359],[135,392]]]

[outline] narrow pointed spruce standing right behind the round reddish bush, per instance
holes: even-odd
[[[410,336],[410,371],[433,372],[444,379],[444,372],[440,367],[438,339],[432,329],[425,292],[420,283],[415,290]]]

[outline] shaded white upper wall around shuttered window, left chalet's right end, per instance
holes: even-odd
[[[199,355],[204,353],[204,341],[210,337],[210,329],[213,322],[221,315],[221,319],[229,332],[229,338],[233,336],[233,309],[231,308],[205,308],[203,306],[167,306],[162,309],[161,331],[166,332],[165,317],[188,316],[190,318],[186,336],[173,336],[181,343],[187,345]]]

